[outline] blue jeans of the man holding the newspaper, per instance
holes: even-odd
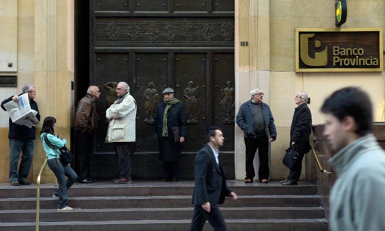
[[[10,182],[26,181],[34,156],[35,140],[10,138]],[[20,153],[23,152],[19,166]]]

